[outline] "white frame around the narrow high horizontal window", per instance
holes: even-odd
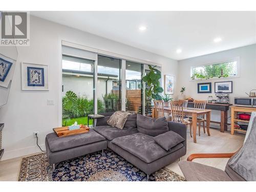
[[[216,65],[219,63],[224,63],[224,62],[232,62],[232,61],[237,61],[237,75],[229,76],[229,77],[212,77],[208,79],[191,79],[193,75],[193,68],[198,68],[198,67],[205,67],[205,66],[211,66],[211,65]],[[234,57],[232,59],[226,59],[226,60],[220,60],[212,63],[207,63],[204,65],[198,65],[198,66],[191,66],[190,67],[190,76],[189,76],[189,81],[202,81],[202,80],[211,80],[211,79],[230,79],[230,78],[239,78],[240,77],[240,57]]]

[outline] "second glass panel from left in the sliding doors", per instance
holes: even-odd
[[[121,110],[121,59],[98,55],[98,114]]]

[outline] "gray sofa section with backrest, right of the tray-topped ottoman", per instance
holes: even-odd
[[[145,119],[141,119],[140,116],[141,122],[139,122],[137,114],[134,114],[129,116],[124,128],[120,130],[106,123],[112,113],[102,115],[105,117],[97,119],[93,130],[106,138],[111,150],[141,169],[147,174],[147,177],[186,154],[186,126],[184,124],[167,121],[168,130],[164,131],[160,129],[161,122],[156,122],[160,128],[154,127],[152,122],[147,122],[148,117],[143,116]],[[138,124],[144,124],[144,126],[140,127]],[[169,140],[175,140],[178,134],[183,141],[166,151],[154,138],[168,131],[176,133],[176,135],[170,136]],[[166,135],[163,138],[163,142],[168,140]]]

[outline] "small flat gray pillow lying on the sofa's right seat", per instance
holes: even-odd
[[[173,131],[168,131],[166,133],[153,137],[153,139],[166,151],[170,150],[170,148],[176,146],[177,144],[185,141],[183,137]]]

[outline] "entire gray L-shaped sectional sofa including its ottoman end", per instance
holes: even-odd
[[[106,149],[107,147],[134,164],[147,174],[147,178],[160,168],[169,165],[186,154],[186,126],[153,119],[142,115],[130,115],[123,129],[108,125],[113,113],[103,113],[96,126],[86,134],[57,137],[46,136],[49,163],[55,163]]]

